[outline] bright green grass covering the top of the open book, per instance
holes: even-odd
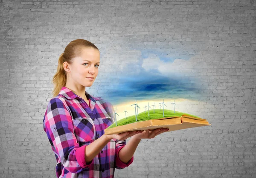
[[[160,119],[160,118],[167,118],[167,117],[173,117],[173,116],[182,116],[183,114],[200,118],[198,116],[194,116],[194,115],[191,115],[191,114],[188,114],[188,113],[181,113],[181,112],[178,112],[178,111],[175,111],[175,113],[174,113],[173,110],[166,110],[166,109],[164,110],[164,117],[163,117],[163,110],[162,109],[155,109],[155,110],[149,110],[149,116],[148,116],[148,111],[146,111],[146,113],[145,113],[145,111],[139,113],[139,116],[137,116],[137,122],[146,121],[146,120],[150,120],[150,119]],[[135,115],[129,116],[126,119],[123,118],[123,119],[119,119],[118,121],[116,121],[117,126],[131,124],[131,123],[134,123],[134,122],[136,122]],[[116,127],[116,123],[114,121],[114,123],[112,125],[110,125],[108,128]]]

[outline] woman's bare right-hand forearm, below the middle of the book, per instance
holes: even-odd
[[[119,159],[127,163],[135,153],[141,139],[131,137],[128,143],[119,151]]]

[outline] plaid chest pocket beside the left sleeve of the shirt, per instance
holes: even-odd
[[[90,118],[75,118],[73,119],[73,126],[77,141],[91,143],[95,139],[93,123],[91,123]]]

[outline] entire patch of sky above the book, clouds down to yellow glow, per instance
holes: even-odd
[[[127,116],[135,115],[135,100],[140,107],[139,113],[145,111],[148,102],[151,109],[152,105],[160,108],[159,102],[163,99],[167,105],[164,108],[174,110],[171,103],[175,100],[175,110],[186,113],[182,105],[195,102],[201,96],[200,79],[186,73],[189,58],[163,57],[163,53],[155,51],[140,51],[140,54],[137,59],[127,59],[128,62],[120,65],[119,79],[108,88],[108,95],[104,97],[116,108],[117,120],[125,117],[125,109]]]

